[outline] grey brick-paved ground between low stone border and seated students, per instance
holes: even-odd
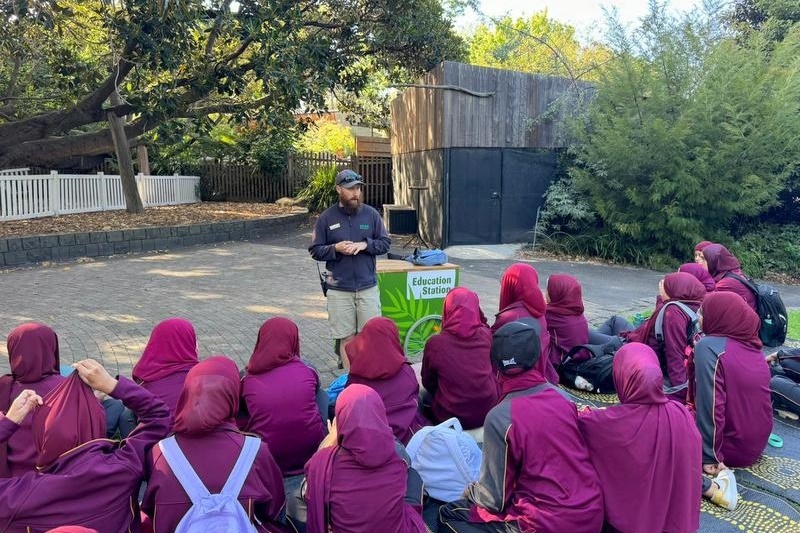
[[[273,315],[295,320],[303,355],[329,381],[335,375],[325,311],[314,262],[306,251],[310,228],[258,242],[195,247],[85,263],[0,272],[0,372],[8,372],[5,337],[36,320],[59,334],[62,361],[93,357],[130,375],[152,327],[170,316],[194,324],[201,357],[225,354],[244,366],[261,323]],[[497,310],[499,278],[511,261],[458,261],[462,285],[475,290],[487,316]],[[576,275],[584,285],[587,316],[652,304],[661,274],[631,268],[537,261],[542,282],[552,272]],[[784,289],[800,306],[800,290]]]

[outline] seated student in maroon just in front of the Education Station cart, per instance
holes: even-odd
[[[428,339],[422,356],[422,385],[432,397],[430,415],[437,424],[456,417],[464,429],[483,425],[497,403],[491,349],[492,332],[478,295],[463,287],[448,292],[442,331]]]

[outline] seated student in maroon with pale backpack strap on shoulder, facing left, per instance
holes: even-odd
[[[706,289],[691,274],[676,272],[667,274],[658,285],[659,303],[644,324],[633,331],[624,332],[622,336],[628,342],[641,342],[650,346],[658,354],[664,373],[665,385],[679,387],[687,384],[686,347],[691,318],[678,306],[669,305],[664,310],[663,341],[656,337],[656,321],[669,302],[680,302],[693,311],[697,311]],[[686,398],[686,388],[672,395],[675,400]]]

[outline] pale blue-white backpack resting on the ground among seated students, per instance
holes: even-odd
[[[475,439],[462,431],[457,418],[438,426],[425,426],[411,437],[406,451],[432,498],[443,502],[458,500],[467,485],[478,480],[481,449]]]

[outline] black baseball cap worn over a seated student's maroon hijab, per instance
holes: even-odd
[[[492,363],[503,374],[533,368],[541,355],[541,326],[533,318],[509,322],[492,336]]]

